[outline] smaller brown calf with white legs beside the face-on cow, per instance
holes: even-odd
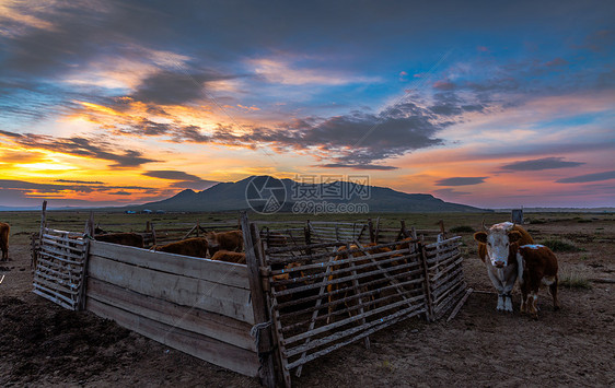
[[[553,296],[553,309],[559,309],[557,299],[557,258],[555,254],[544,245],[522,245],[517,252],[517,260],[523,268],[522,277],[519,278],[521,287],[521,313],[530,314],[534,319],[538,318],[538,289],[541,284],[549,286]]]

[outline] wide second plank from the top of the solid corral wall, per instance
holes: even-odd
[[[254,324],[250,291],[90,255],[91,278],[183,306]]]

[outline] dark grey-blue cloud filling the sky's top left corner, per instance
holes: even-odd
[[[101,54],[129,58],[134,56],[130,43],[164,43],[175,36],[169,16],[146,2],[62,1],[33,10],[13,5],[50,27],[13,25],[20,33],[0,40],[5,52],[0,66],[10,74],[59,75]]]

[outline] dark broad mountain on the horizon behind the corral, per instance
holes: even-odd
[[[186,189],[169,199],[149,202],[132,210],[225,211],[254,209],[271,213],[303,210],[313,205],[325,212],[475,212],[484,209],[444,202],[431,195],[406,193],[386,187],[363,186],[349,181],[303,184],[270,176],[252,176],[236,183],[221,183],[196,192]],[[312,207],[312,208],[310,208]],[[346,211],[341,211],[346,208]],[[333,211],[332,211],[333,210]],[[353,210],[353,211],[352,211]]]

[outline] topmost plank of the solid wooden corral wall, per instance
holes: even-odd
[[[250,290],[247,270],[244,264],[213,261],[198,257],[166,254],[103,242],[92,242],[90,255],[105,257],[152,270]]]

